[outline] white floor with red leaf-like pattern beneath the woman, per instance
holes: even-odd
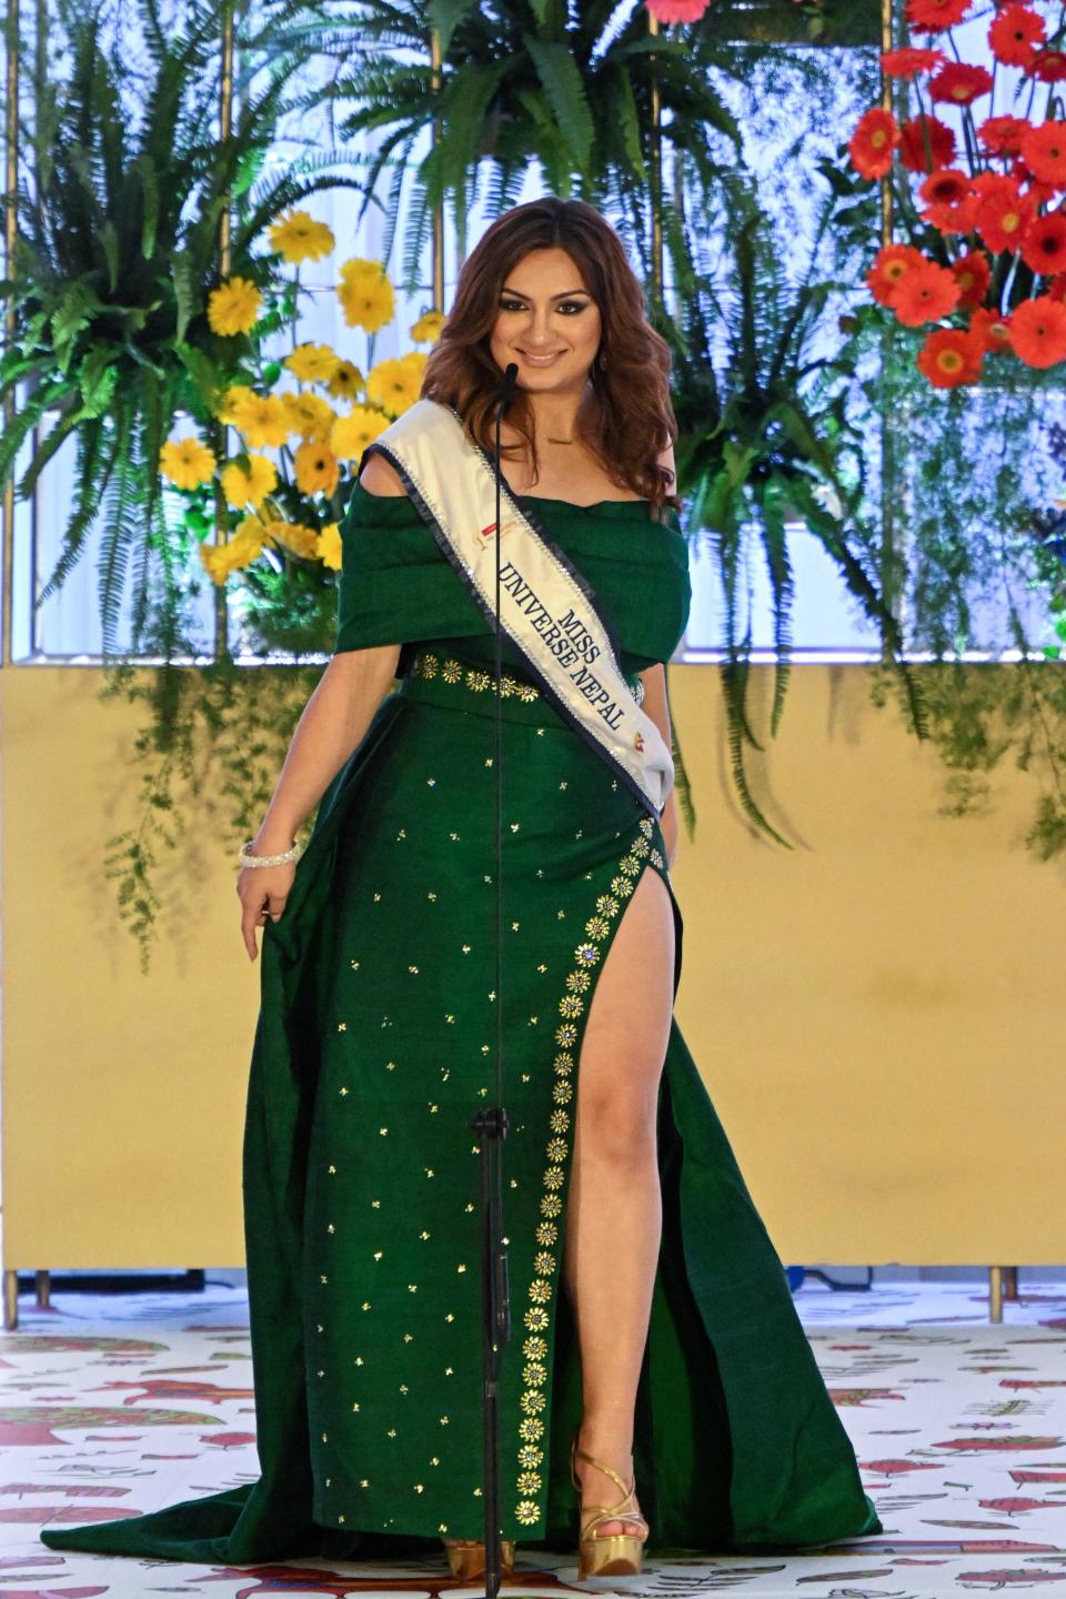
[[[1039,1273],[1032,1273],[1034,1279]],[[1058,1274],[1056,1274],[1058,1276]],[[970,1591],[1066,1593],[1066,1284],[1028,1281],[988,1321],[980,1279],[876,1281],[834,1292],[809,1276],[796,1306],[841,1409],[881,1538],[794,1557],[649,1557],[639,1578],[575,1586],[567,1551],[531,1556],[503,1593],[655,1594],[711,1589],[818,1599],[932,1599]],[[141,1514],[254,1479],[254,1409],[240,1279],[203,1294],[24,1294],[0,1335],[0,1596],[481,1593],[436,1562],[294,1561],[195,1567],[62,1554],[43,1525]]]

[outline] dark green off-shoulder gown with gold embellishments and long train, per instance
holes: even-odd
[[[668,660],[690,598],[676,516],[660,523],[644,500],[521,505],[591,584],[630,683]],[[497,993],[491,624],[406,496],[356,484],[342,539],[337,649],[400,643],[401,681],[326,792],[286,911],[264,929],[243,1161],[262,1476],[43,1530],[51,1548],[251,1562],[441,1553],[441,1537],[483,1535],[468,1122],[494,1095],[497,1004],[513,1324],[502,1533],[519,1559],[575,1548],[580,1361],[561,1254],[582,1031],[641,873],[670,887],[663,838],[505,640]],[[649,1554],[881,1532],[676,1022],[658,1161],[634,1434]]]

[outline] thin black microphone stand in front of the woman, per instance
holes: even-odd
[[[507,1111],[503,1108],[503,720],[500,643],[500,421],[518,381],[518,365],[510,361],[500,385],[495,413],[495,1105],[484,1105],[467,1122],[478,1134],[481,1153],[481,1351],[484,1393],[484,1593],[500,1591],[500,1425],[499,1375],[503,1345],[511,1335],[510,1282],[503,1236],[503,1150]]]

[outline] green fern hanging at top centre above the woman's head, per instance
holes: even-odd
[[[670,138],[695,169],[708,179],[719,169],[716,136],[738,149],[738,128],[708,75],[708,62],[727,70],[735,51],[710,38],[650,35],[642,6],[615,22],[615,8],[603,5],[416,0],[398,10],[366,0],[358,13],[326,18],[292,0],[270,30],[286,50],[339,62],[326,90],[339,134],[376,141],[355,225],[387,174],[382,254],[390,261],[409,192],[403,281],[411,288],[422,277],[436,206],[451,209],[462,259],[475,200],[484,192],[489,214],[499,214],[516,203],[531,169],[543,174],[548,192],[580,193],[620,217],[647,265],[652,78]],[[416,158],[433,128],[436,138]]]

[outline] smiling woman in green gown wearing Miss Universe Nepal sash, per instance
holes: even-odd
[[[511,585],[497,697],[475,572],[494,520],[484,499],[454,526],[447,507],[478,473],[486,491],[511,361],[500,560],[518,571],[526,552],[545,592],[591,609],[585,632],[574,604]],[[882,1530],[673,1022],[663,664],[689,580],[668,368],[620,240],[583,201],[516,206],[465,261],[419,405],[364,454],[337,651],[237,884],[253,959],[264,927],[245,1138],[262,1476],[42,1533],[53,1548],[233,1562],[443,1538],[455,1573],[483,1569],[468,1124],[492,1091],[497,1001],[505,1559],[518,1540],[577,1541],[583,1577],[639,1570],[646,1541],[758,1551]],[[569,617],[563,638],[537,606]],[[622,683],[609,712],[587,683],[599,627],[593,681]],[[567,691],[553,673],[582,644]],[[316,804],[299,867],[264,865]]]

